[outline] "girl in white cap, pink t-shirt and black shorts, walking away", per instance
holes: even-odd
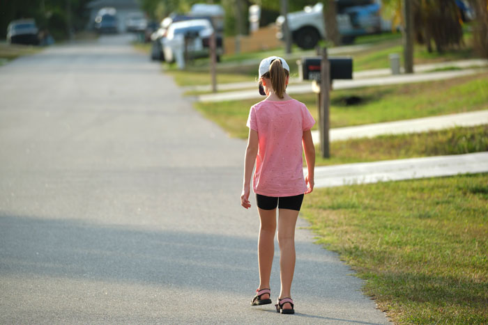
[[[276,208],[280,246],[281,292],[276,310],[293,314],[291,281],[295,269],[295,225],[303,195],[314,189],[315,148],[310,129],[315,124],[305,104],[285,91],[289,66],[283,58],[270,56],[259,64],[259,93],[266,100],[251,107],[247,127],[244,184],[241,205],[248,209],[254,161],[253,189],[261,228],[258,240],[259,287],[252,306],[266,305],[270,299],[270,274],[275,253]],[[302,147],[303,144],[303,147]],[[307,161],[303,177],[302,151]]]

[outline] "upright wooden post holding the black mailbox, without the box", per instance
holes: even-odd
[[[330,64],[327,56],[327,47],[322,49],[321,60],[321,105],[319,110],[319,128],[320,128],[320,148],[323,158],[330,158],[329,152],[329,104],[330,104]]]

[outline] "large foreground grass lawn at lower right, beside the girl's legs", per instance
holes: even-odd
[[[302,216],[393,322],[488,323],[488,174],[315,189]]]

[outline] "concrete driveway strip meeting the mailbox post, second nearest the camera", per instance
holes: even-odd
[[[473,127],[484,124],[488,124],[488,110],[358,125],[355,127],[338,127],[330,129],[329,139],[330,141],[340,141],[349,138],[370,138],[383,134],[418,133],[448,129],[450,127]],[[314,143],[320,143],[319,131],[312,131],[312,138]]]

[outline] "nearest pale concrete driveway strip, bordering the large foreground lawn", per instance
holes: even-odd
[[[305,168],[306,173],[306,168]],[[315,187],[488,173],[488,152],[315,167]]]

